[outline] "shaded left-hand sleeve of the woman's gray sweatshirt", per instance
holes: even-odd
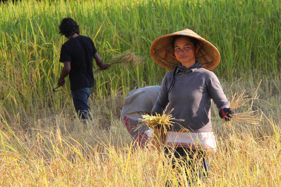
[[[167,92],[167,77],[168,76],[166,74],[162,80],[161,89],[152,108],[151,114],[162,114],[169,103],[169,94]]]

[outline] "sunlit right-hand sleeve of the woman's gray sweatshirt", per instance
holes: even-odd
[[[212,98],[219,110],[225,107],[230,107],[230,103],[223,92],[221,83],[213,72],[211,72],[210,79],[208,82],[208,90],[210,97]]]

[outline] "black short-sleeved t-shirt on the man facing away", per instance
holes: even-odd
[[[70,90],[94,86],[93,55],[96,52],[93,41],[81,35],[61,46],[60,62],[70,62]]]

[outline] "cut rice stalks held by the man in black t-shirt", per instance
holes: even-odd
[[[131,50],[123,52],[118,55],[113,55],[112,59],[107,62],[110,65],[114,64],[128,64],[128,63],[141,63],[142,58],[141,56],[137,56],[134,52]],[[93,70],[94,75],[98,75],[102,70],[100,68],[96,68]]]

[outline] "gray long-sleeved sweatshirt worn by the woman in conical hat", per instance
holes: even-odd
[[[212,100],[218,109],[229,108],[229,101],[217,76],[212,71],[202,68],[199,62],[190,68],[179,64],[174,81],[173,72],[166,73],[163,78],[160,93],[151,113],[162,114],[170,102],[170,110],[174,109],[171,112],[172,116],[185,120],[174,121],[172,131],[179,132],[182,128],[186,128],[190,132],[211,132]]]

